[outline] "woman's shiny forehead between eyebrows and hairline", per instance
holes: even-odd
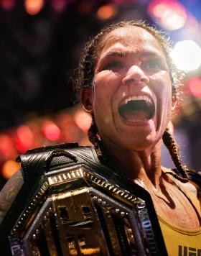
[[[146,29],[134,26],[121,27],[108,33],[101,47],[100,55],[113,50],[113,48],[136,53],[148,51],[164,55],[162,45],[154,35],[151,35]]]

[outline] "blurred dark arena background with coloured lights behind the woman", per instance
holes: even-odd
[[[122,19],[146,19],[172,38],[172,58],[187,72],[172,124],[183,162],[200,170],[200,10],[199,0],[0,0],[0,188],[29,148],[90,145],[73,73],[89,37]],[[173,166],[164,148],[162,164]]]

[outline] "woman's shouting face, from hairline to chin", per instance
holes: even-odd
[[[162,46],[141,27],[113,30],[98,55],[90,93],[90,110],[105,145],[137,151],[154,147],[172,109]]]

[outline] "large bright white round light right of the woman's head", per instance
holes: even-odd
[[[192,40],[177,42],[171,55],[175,65],[180,70],[195,70],[201,64],[201,49]]]

